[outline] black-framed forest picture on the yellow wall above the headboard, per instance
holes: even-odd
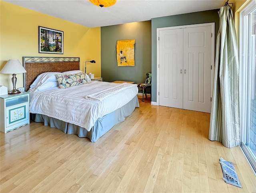
[[[64,32],[38,26],[39,53],[63,54]]]

